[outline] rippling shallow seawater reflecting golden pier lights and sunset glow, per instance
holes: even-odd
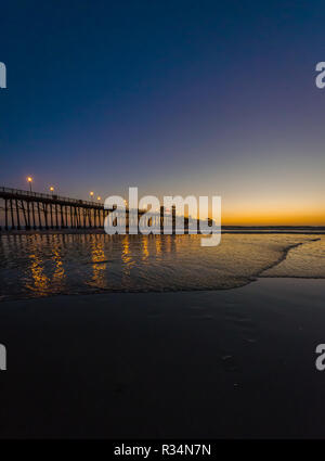
[[[199,235],[2,235],[1,299],[235,287],[276,264],[286,248],[315,238],[224,234],[219,246],[202,247]],[[324,242],[290,251],[288,262],[277,266],[281,276],[296,277],[297,266],[298,277],[325,277]],[[264,273],[276,276],[276,268]]]

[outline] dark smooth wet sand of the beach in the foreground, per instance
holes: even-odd
[[[0,304],[1,437],[324,437],[325,280]]]

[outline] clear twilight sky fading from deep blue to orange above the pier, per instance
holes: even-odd
[[[324,23],[318,0],[5,2],[0,185],[325,225]]]

